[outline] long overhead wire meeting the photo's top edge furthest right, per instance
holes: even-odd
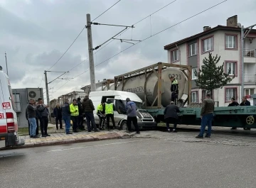
[[[225,1],[228,1],[228,0],[225,0]],[[170,26],[170,27],[168,27],[168,28],[165,28],[165,29],[162,30],[162,31],[159,31],[158,33],[155,33],[154,35],[150,35],[149,37],[144,38],[144,40],[142,40],[142,41],[140,41],[140,42],[138,42],[138,43],[142,43],[143,41],[148,40],[149,38],[154,37],[155,35],[158,35],[159,33],[162,33],[162,32],[164,32],[164,31],[168,30],[169,28],[173,28],[174,26],[177,26],[178,24],[183,23],[184,21],[188,21],[189,19],[191,19],[191,18],[193,18],[193,17],[195,17],[195,16],[198,16],[199,14],[201,14],[201,13],[203,13],[203,12],[206,12],[206,11],[208,11],[208,10],[210,10],[210,9],[213,9],[215,6],[218,6],[218,5],[220,5],[220,4],[223,4],[225,1],[221,1],[220,3],[215,4],[214,6],[210,6],[208,9],[205,9],[205,10],[199,12],[199,13],[196,13],[196,14],[194,14],[193,16],[190,16],[190,17],[184,19],[183,21],[180,21],[180,22],[178,22],[178,23],[176,23],[176,24],[174,24],[174,25],[172,25],[172,26]],[[134,45],[137,45],[138,43],[135,43]],[[124,50],[122,50],[121,52],[118,52],[117,54],[112,55],[112,57],[109,57],[107,60],[104,60],[104,61],[98,63],[97,65],[95,65],[95,67],[101,65],[101,64],[104,63],[104,62],[107,62],[108,60],[110,60],[110,59],[112,59],[113,57],[119,55],[120,53],[124,52],[125,50],[128,50],[129,48],[132,48],[134,45],[131,45],[131,46],[129,46],[128,48],[125,48]],[[87,71],[89,71],[89,70],[85,70],[85,72],[87,72]],[[85,72],[82,72],[82,73],[78,74],[76,77],[79,77],[80,75],[84,74]],[[73,79],[75,79],[76,77],[74,77]],[[68,82],[69,82],[69,81],[70,81],[70,80],[68,80]],[[66,82],[65,84],[67,84],[68,82]],[[63,84],[61,87],[63,87],[65,84]],[[61,88],[61,87],[60,87],[60,88]],[[59,89],[60,89],[60,88],[59,88]]]

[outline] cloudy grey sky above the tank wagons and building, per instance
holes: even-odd
[[[92,20],[100,16],[94,22],[122,26],[132,26],[151,15],[116,37],[147,40],[137,45],[110,40],[105,47],[94,50],[96,82],[156,62],[167,62],[164,45],[201,33],[203,26],[225,26],[227,18],[234,15],[238,15],[238,22],[245,27],[256,22],[255,0],[228,0],[182,23],[179,22],[223,0],[173,1],[121,0],[100,16],[117,0],[0,0],[0,65],[6,71],[6,52],[12,88],[42,87],[43,92],[46,92],[45,70],[52,71],[47,72],[48,82],[70,70],[62,79],[48,84],[50,99],[56,99],[62,94],[82,91],[81,87],[90,84],[90,71],[85,72],[89,70],[87,30],[82,31],[87,13]],[[166,4],[169,6],[161,9]],[[161,10],[154,13],[158,9]],[[176,23],[179,24],[174,26]],[[159,33],[166,28],[169,29]],[[93,48],[123,29],[93,25]],[[149,38],[151,35],[154,36]],[[126,48],[129,49],[122,52]]]

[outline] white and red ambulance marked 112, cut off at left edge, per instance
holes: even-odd
[[[0,84],[0,142],[5,142],[6,147],[24,145],[24,140],[18,137],[18,121],[10,80],[1,66]]]

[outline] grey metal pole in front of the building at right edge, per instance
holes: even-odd
[[[245,96],[245,90],[244,90],[244,77],[245,77],[245,73],[244,73],[244,56],[245,56],[245,38],[247,37],[247,35],[250,33],[250,31],[252,30],[252,28],[256,26],[252,25],[249,26],[247,28],[244,28],[244,26],[241,27],[241,96]],[[246,30],[246,31],[245,31]]]

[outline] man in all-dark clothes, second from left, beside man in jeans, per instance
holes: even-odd
[[[38,105],[36,106],[36,108],[38,110],[38,118],[39,118],[39,121],[40,121],[42,137],[50,136],[47,133],[48,122],[49,122],[48,107],[49,107],[48,105],[43,104],[43,99],[42,98],[38,99]]]

